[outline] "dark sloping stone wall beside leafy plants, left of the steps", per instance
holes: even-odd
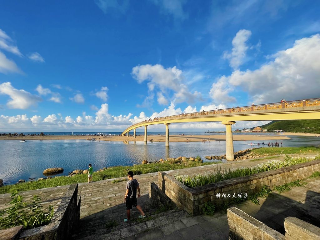
[[[22,231],[19,240],[71,239],[72,231],[80,219],[81,196],[78,198],[78,184],[70,185],[66,195],[54,213],[51,222],[45,226]]]

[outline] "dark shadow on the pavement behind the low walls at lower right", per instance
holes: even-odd
[[[283,196],[287,195],[287,196]],[[289,194],[271,193],[255,214],[249,214],[263,222],[268,227],[275,229],[284,235],[284,219],[296,217],[312,225],[320,227],[320,194],[308,190],[304,203],[300,200],[292,200]],[[296,198],[296,197],[295,197]]]

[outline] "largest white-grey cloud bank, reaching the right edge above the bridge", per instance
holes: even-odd
[[[212,84],[212,99],[232,101],[229,94],[235,88],[242,88],[255,104],[319,97],[320,34],[296,40],[292,48],[272,57],[274,60],[259,69],[236,70],[230,76],[222,76]]]

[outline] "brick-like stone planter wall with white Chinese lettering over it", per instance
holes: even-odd
[[[271,188],[291,182],[297,179],[304,179],[313,172],[320,171],[320,160],[307,163],[283,167],[267,172],[260,172],[244,177],[224,180],[217,183],[208,184],[196,188],[188,188],[174,177],[165,172],[158,172],[158,189],[154,185],[150,186],[150,201],[158,205],[172,205],[173,203],[180,209],[191,215],[200,214],[200,210],[206,202],[213,202],[216,205],[228,204],[238,196],[238,194],[253,194],[263,186]],[[157,193],[156,191],[162,191]],[[217,194],[221,194],[217,197]],[[222,194],[231,197],[222,197]],[[173,203],[171,203],[173,202]]]

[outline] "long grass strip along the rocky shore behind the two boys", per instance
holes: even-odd
[[[170,163],[164,162],[164,163],[153,163],[153,164],[140,164],[135,166],[116,166],[116,167],[110,167],[109,169],[106,169],[102,172],[94,172],[92,176],[92,180],[100,181],[100,180],[111,179],[111,178],[126,177],[129,171],[129,170],[127,171],[127,169],[130,169],[131,171],[133,171],[134,175],[139,175],[139,174],[145,174],[145,173],[151,173],[151,172],[177,170],[182,168],[196,167],[196,166],[202,166],[202,165],[212,165],[212,164],[214,163],[212,162],[201,163],[196,161],[192,161],[192,162],[190,161],[186,165],[170,164]],[[28,190],[40,189],[40,188],[51,188],[51,187],[57,187],[57,186],[63,186],[63,185],[69,185],[69,184],[81,183],[81,182],[87,182],[87,181],[88,181],[87,174],[76,174],[72,177],[59,176],[59,177],[54,177],[46,180],[30,181],[30,182],[24,182],[19,184],[5,185],[0,188],[0,194],[12,193],[14,191],[22,192],[22,191],[28,191]]]

